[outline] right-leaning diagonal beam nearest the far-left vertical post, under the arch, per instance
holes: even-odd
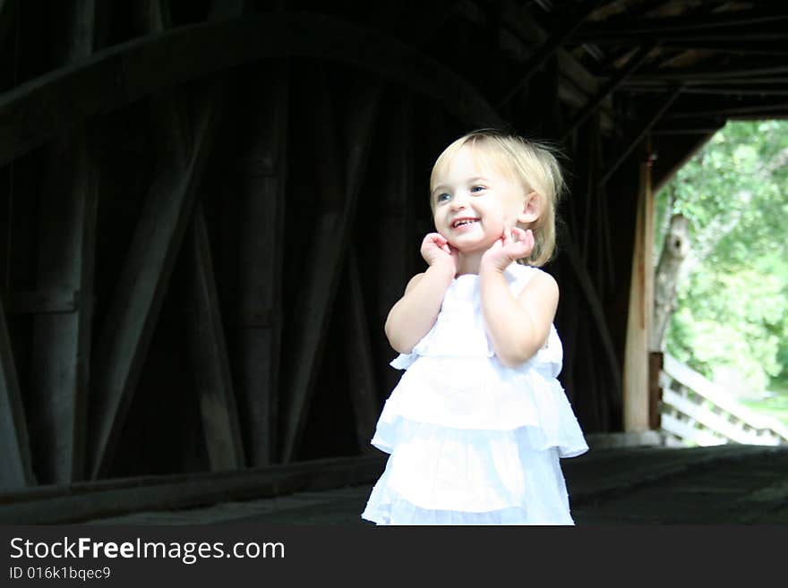
[[[150,186],[99,337],[96,401],[90,414],[92,478],[103,475],[111,464],[213,146],[223,106],[218,82],[206,94],[198,106],[200,120],[189,166],[183,173],[161,169]]]

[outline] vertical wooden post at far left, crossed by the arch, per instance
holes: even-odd
[[[95,0],[79,0],[68,14],[65,64],[93,52]],[[85,473],[98,172],[83,129],[47,152],[39,206],[39,291],[86,293],[73,312],[34,315],[31,354],[30,441],[39,483],[78,481]]]

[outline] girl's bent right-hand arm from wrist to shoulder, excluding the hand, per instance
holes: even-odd
[[[501,271],[479,273],[482,312],[487,335],[498,359],[515,367],[544,346],[558,308],[558,284],[539,272],[513,296]]]

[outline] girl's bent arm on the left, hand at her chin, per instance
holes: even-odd
[[[443,249],[445,247],[446,249]],[[430,267],[423,274],[410,278],[405,294],[389,311],[386,337],[400,354],[409,354],[438,319],[443,296],[449,288],[456,264],[445,239],[439,234],[424,238],[422,254]]]

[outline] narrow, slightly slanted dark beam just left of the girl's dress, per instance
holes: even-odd
[[[362,280],[358,271],[355,251],[350,248],[347,256],[347,376],[350,386],[350,399],[355,417],[355,438],[362,454],[372,454],[377,450],[370,445],[375,433],[375,424],[381,412],[380,393],[375,378],[372,342],[369,325],[364,310]]]

